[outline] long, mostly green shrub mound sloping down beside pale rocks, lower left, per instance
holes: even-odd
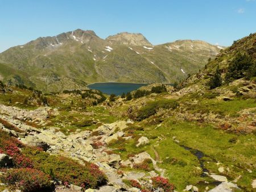
[[[47,152],[30,148],[24,149],[23,153],[33,161],[34,168],[42,170],[44,173],[51,173],[53,178],[63,183],[81,186],[84,189],[95,189],[105,185],[108,181],[98,166],[89,162],[84,162],[85,165],[81,165],[71,158],[53,156]]]

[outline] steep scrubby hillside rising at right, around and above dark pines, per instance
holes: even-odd
[[[234,41],[232,46],[221,51],[221,53],[219,53],[214,60],[209,61],[208,64],[205,65],[205,68],[202,69],[199,73],[194,74],[193,76],[182,82],[181,86],[183,86],[184,88],[180,90],[180,93],[195,93],[195,91],[204,91],[209,89],[209,80],[216,72],[217,66],[220,68],[222,85],[228,85],[229,82],[225,81],[225,77],[229,71],[229,65],[233,64],[234,60],[237,59],[239,55],[246,55],[247,58],[252,60],[251,63],[254,63],[255,65],[256,33],[250,34],[249,36],[243,37],[240,40]],[[253,73],[256,73],[256,69],[253,68],[253,70]],[[241,72],[234,72],[234,74],[238,73]],[[230,85],[232,85],[232,82]]]

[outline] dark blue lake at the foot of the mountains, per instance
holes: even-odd
[[[142,87],[145,85],[148,85],[148,84],[107,82],[107,83],[90,84],[90,85],[88,85],[88,87],[90,89],[100,90],[102,93],[106,93],[108,95],[110,95],[110,94],[121,95],[122,93],[126,94],[130,91],[136,90],[139,87]]]

